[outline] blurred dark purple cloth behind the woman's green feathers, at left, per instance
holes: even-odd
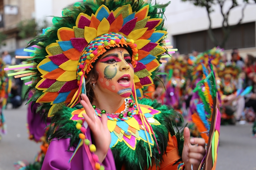
[[[28,130],[31,135],[33,135],[33,139],[38,142],[42,136],[45,135],[46,126],[50,124],[50,119],[46,120],[46,123],[42,120],[39,113],[36,113],[36,109],[40,106],[39,103],[35,103],[31,108],[32,102],[28,104]],[[32,109],[32,110],[31,110]]]

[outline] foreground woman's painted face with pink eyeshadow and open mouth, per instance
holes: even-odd
[[[96,87],[122,97],[132,94],[134,69],[132,56],[123,47],[116,47],[102,54],[96,64],[99,78]]]

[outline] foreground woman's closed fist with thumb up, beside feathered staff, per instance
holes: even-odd
[[[185,164],[186,170],[191,170],[191,164],[193,164],[193,170],[197,170],[199,168],[199,165],[203,160],[204,155],[206,154],[206,149],[204,146],[205,141],[203,138],[190,139],[190,132],[188,127],[184,128],[182,160]]]

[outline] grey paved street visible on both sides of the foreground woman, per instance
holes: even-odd
[[[14,170],[18,160],[32,162],[39,150],[39,144],[27,139],[26,108],[5,110],[8,134],[0,141],[0,170]],[[251,126],[221,126],[216,170],[256,170],[256,138],[251,138]]]

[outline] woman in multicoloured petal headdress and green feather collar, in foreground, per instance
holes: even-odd
[[[188,128],[184,137],[175,133],[173,109],[137,99],[153,84],[151,75],[166,52],[166,6],[142,0],[75,3],[30,42],[38,46],[29,71],[32,100],[55,127],[42,169],[199,167],[204,140],[190,143]]]

